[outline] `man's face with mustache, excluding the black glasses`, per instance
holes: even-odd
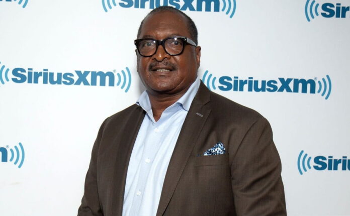
[[[177,13],[159,12],[143,22],[139,38],[163,40],[183,36],[190,39],[186,19]],[[151,57],[137,54],[137,72],[150,94],[185,93],[195,81],[200,64],[201,47],[186,45],[181,55],[170,56],[162,46]]]

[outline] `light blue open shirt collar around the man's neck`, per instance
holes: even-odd
[[[188,112],[190,110],[191,103],[197,94],[200,83],[201,81],[197,76],[196,80],[191,84],[186,93],[175,103],[181,104],[183,109]],[[147,113],[152,110],[151,102],[149,101],[149,97],[146,90],[142,92],[140,97],[137,99],[136,104],[141,106],[142,109]]]

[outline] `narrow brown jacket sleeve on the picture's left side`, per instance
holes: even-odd
[[[105,121],[106,122],[106,121]],[[85,177],[84,195],[78,208],[78,216],[103,216],[97,185],[97,160],[105,122],[102,124],[91,154],[91,161]]]

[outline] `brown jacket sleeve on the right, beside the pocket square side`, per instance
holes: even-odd
[[[233,156],[231,176],[238,216],[287,215],[281,160],[264,117],[243,137]]]

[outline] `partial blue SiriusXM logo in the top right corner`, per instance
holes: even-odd
[[[319,15],[324,18],[350,18],[350,12],[347,13],[350,11],[349,6],[342,6],[341,3],[335,5],[333,3],[323,3],[319,7],[320,4],[316,3],[315,0],[310,2],[310,0],[307,0],[305,4],[305,16],[308,22],[310,22],[310,18],[315,19]],[[319,13],[319,8],[321,8],[321,13]]]

